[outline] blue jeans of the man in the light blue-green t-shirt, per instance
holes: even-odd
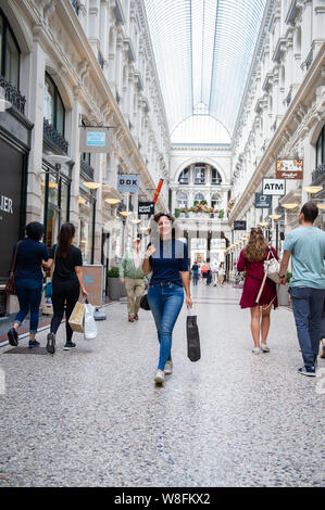
[[[312,368],[320,350],[325,290],[291,286],[289,292],[303,362],[307,368]]]

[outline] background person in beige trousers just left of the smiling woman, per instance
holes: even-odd
[[[133,250],[126,252],[120,264],[120,280],[125,284],[127,294],[128,321],[139,319],[140,301],[145,292],[145,273],[142,270],[141,240],[135,239]]]

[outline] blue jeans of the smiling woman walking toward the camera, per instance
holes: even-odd
[[[149,286],[148,302],[160,342],[158,368],[164,370],[166,361],[172,360],[172,334],[184,302],[183,286],[171,282],[152,284]]]

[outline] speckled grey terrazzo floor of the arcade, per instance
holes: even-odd
[[[163,386],[151,313],[127,322],[125,303],[76,350],[64,326],[54,356],[1,347],[0,486],[324,486],[325,396],[297,372],[292,313],[273,311],[271,353],[254,356],[240,292],[192,289],[202,358],[187,358],[184,306]]]

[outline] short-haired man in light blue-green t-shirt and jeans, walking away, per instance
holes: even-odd
[[[298,341],[303,367],[299,373],[315,377],[320,352],[322,315],[325,298],[325,232],[314,227],[318,207],[307,202],[299,215],[299,227],[292,230],[284,243],[280,265],[282,283],[286,283],[287,267],[291,257],[292,277],[289,284]]]

